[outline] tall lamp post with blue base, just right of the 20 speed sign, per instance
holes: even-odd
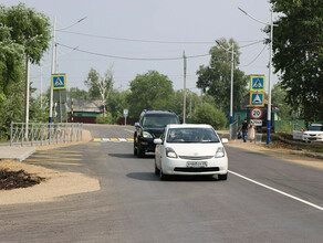
[[[271,129],[271,78],[272,78],[272,42],[273,42],[273,21],[272,21],[272,9],[270,23],[262,22],[252,15],[248,14],[244,10],[238,8],[241,12],[243,12],[249,18],[256,20],[259,23],[264,25],[270,25],[270,47],[269,47],[269,76],[268,76],[268,107],[267,107],[267,145],[270,144],[270,129]]]

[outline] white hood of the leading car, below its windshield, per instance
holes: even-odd
[[[223,147],[221,142],[204,144],[168,144],[178,156],[213,156],[218,147]]]

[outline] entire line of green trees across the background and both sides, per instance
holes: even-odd
[[[270,0],[280,14],[274,21],[273,65],[280,82],[272,89],[272,104],[282,118],[304,118],[306,123],[323,120],[323,8],[321,0]],[[269,29],[264,29],[269,33]],[[40,64],[50,47],[49,18],[25,4],[0,6],[0,140],[8,139],[11,122],[24,120],[25,60]],[[209,51],[209,65],[197,71],[198,95],[187,91],[187,116],[194,122],[225,126],[230,97],[230,55],[223,50],[235,46],[235,109],[248,94],[249,77],[239,68],[239,45],[233,40],[219,39]],[[70,98],[102,99],[106,114],[103,122],[113,123],[124,108],[138,117],[144,108],[173,109],[183,118],[183,91],[175,91],[167,75],[157,71],[138,74],[129,81],[127,91],[113,86],[113,68],[101,76],[91,68],[84,83],[87,89],[71,87]],[[35,89],[31,87],[31,94]],[[44,97],[31,95],[30,122],[46,122],[49,92]],[[204,120],[197,120],[202,117]],[[215,119],[219,120],[212,120]],[[221,117],[221,118],[218,118]]]

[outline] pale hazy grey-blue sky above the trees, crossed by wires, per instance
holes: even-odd
[[[84,81],[91,68],[101,76],[112,68],[114,87],[118,89],[127,89],[136,75],[150,70],[167,75],[174,89],[181,89],[184,61],[180,57],[185,51],[186,87],[199,93],[196,72],[200,65],[209,64],[210,55],[206,54],[220,38],[238,42],[239,68],[246,75],[263,74],[268,81],[269,46],[261,42],[267,38],[262,31],[264,24],[238,9],[269,23],[268,0],[1,0],[0,4],[9,7],[19,2],[43,12],[52,25],[56,18],[58,73],[66,74],[67,88],[86,88]],[[66,27],[71,28],[59,31]],[[74,47],[77,49],[71,51]],[[201,56],[189,57],[197,55]],[[50,47],[43,56],[43,67],[31,67],[32,86],[38,93],[41,83],[43,92],[50,86],[51,60]],[[277,82],[273,75],[271,83]]]

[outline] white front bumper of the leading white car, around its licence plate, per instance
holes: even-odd
[[[206,176],[228,173],[228,158],[212,158],[202,160],[207,162],[206,167],[188,167],[186,159],[164,158],[162,169],[165,175],[183,176]]]

